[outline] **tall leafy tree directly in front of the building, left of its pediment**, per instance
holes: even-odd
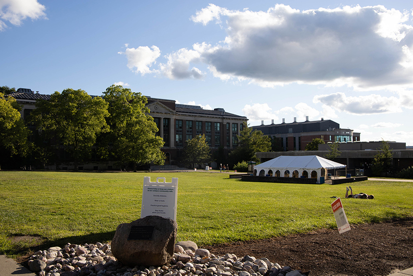
[[[122,163],[132,162],[134,171],[138,164],[162,164],[164,142],[156,136],[157,125],[145,107],[147,98],[121,85],[112,85],[104,92],[104,99],[109,104],[108,139],[116,158]]]

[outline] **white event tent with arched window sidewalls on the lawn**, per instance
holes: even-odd
[[[316,156],[279,156],[254,167],[255,175],[272,174],[280,177],[296,177],[306,175],[308,178],[317,178],[320,183],[320,177],[325,177],[325,169],[345,168],[346,165],[333,162],[331,160]],[[322,171],[322,169],[324,169]],[[297,171],[297,172],[296,172]]]

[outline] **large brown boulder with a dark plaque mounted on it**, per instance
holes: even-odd
[[[151,238],[128,240],[133,227],[153,227]],[[162,266],[173,257],[176,232],[176,221],[160,216],[122,223],[116,229],[111,251],[118,261],[127,266]]]

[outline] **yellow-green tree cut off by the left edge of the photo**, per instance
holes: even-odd
[[[0,146],[2,152],[10,156],[25,156],[29,150],[29,129],[25,126],[18,111],[19,105],[13,97],[0,93]]]

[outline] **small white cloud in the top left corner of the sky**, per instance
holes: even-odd
[[[1,0],[0,1],[0,32],[7,28],[6,22],[14,26],[20,26],[27,18],[36,20],[46,18],[44,11],[46,7],[39,4],[37,0]]]

